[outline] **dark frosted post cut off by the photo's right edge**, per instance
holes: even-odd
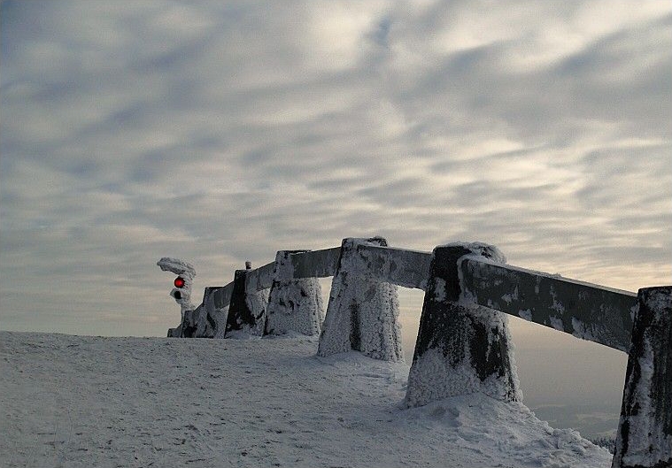
[[[672,286],[639,289],[613,468],[672,466]]]

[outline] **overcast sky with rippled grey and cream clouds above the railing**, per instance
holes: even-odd
[[[0,329],[165,335],[349,236],[672,283],[672,6],[0,3]]]

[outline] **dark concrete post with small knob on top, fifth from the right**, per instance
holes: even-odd
[[[236,331],[259,336],[264,333],[268,290],[246,292],[245,277],[249,272],[250,270],[236,270],[234,275],[234,289],[228,306],[227,336]]]

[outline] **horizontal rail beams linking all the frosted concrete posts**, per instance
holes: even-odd
[[[341,248],[335,247],[291,254],[293,278],[334,276],[340,253]],[[357,247],[357,253],[360,272],[403,288],[427,288],[430,252],[362,244]],[[627,352],[630,347],[636,293],[483,258],[465,258],[460,272],[467,302],[610,348]],[[273,280],[274,263],[260,266],[247,273],[245,290],[251,294],[271,288]],[[228,304],[232,292],[233,282],[221,288],[207,288],[205,295],[212,294],[220,308]]]

